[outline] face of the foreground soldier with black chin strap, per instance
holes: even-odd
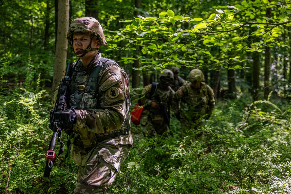
[[[73,34],[73,48],[74,52],[85,50],[88,45],[91,42],[91,35],[88,33],[79,33],[79,34]],[[91,42],[92,48],[99,48],[101,46],[100,42],[96,40],[96,38],[93,38]],[[95,56],[98,51],[89,51],[85,56]],[[81,56],[82,54],[79,54],[77,56]]]

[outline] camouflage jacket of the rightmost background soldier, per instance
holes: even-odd
[[[214,92],[204,82],[201,82],[200,89],[193,88],[191,82],[185,83],[173,97],[173,110],[176,111],[176,114],[180,113],[181,118],[189,117],[189,115],[192,119],[205,114],[211,116],[214,105]],[[191,112],[189,113],[189,111]]]

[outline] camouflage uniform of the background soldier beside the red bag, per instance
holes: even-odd
[[[144,126],[143,132],[145,134],[147,133],[149,137],[163,135],[164,133],[165,136],[168,136],[168,127],[165,118],[159,109],[152,108],[150,104],[153,101],[159,103],[157,97],[155,97],[158,95],[168,113],[169,107],[172,106],[174,91],[170,86],[163,90],[159,87],[159,84],[157,83],[154,92],[152,91],[152,84],[150,84],[145,86],[145,89],[141,93],[142,96],[145,96],[141,99],[141,104],[145,105],[145,109],[142,112],[141,125]]]

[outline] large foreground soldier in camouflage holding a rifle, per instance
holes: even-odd
[[[107,42],[95,18],[74,19],[67,38],[79,57],[73,64],[69,109],[50,117],[60,117],[61,129],[74,137],[71,157],[79,165],[74,194],[104,194],[133,146],[129,78],[114,60],[101,56],[99,49]]]

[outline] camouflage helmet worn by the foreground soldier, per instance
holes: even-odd
[[[73,47],[74,33],[92,34],[100,41],[101,45],[107,45],[103,29],[98,20],[93,17],[79,17],[71,22],[67,33],[67,39],[71,47]]]

